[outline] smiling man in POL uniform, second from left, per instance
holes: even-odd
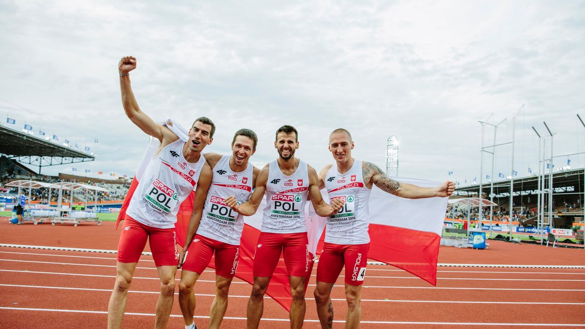
[[[190,222],[178,266],[183,269],[179,283],[179,304],[187,329],[197,328],[193,322],[193,286],[207,268],[214,251],[215,298],[211,304],[209,328],[219,328],[228,308],[229,286],[238,266],[244,221],[243,216],[228,207],[224,201],[230,196],[235,197],[239,203],[249,200],[256,176],[260,172],[260,169],[248,163],[250,156],[256,152],[257,143],[256,133],[250,129],[240,129],[233,136],[231,156],[217,153],[204,155],[211,166],[213,180],[205,200],[201,222]]]

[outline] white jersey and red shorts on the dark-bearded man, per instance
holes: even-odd
[[[285,176],[277,160],[270,162],[266,208],[254,255],[254,276],[272,276],[281,251],[288,275],[307,275],[309,251],[305,203],[308,193],[307,163],[299,160],[297,170],[291,176]]]

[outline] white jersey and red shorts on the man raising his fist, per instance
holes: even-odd
[[[135,263],[149,238],[156,266],[177,265],[175,223],[179,206],[195,190],[205,158],[189,163],[177,139],[154,156],[138,183],[124,218],[118,261]]]

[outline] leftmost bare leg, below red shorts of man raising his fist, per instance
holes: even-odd
[[[122,325],[122,316],[126,310],[126,294],[130,289],[136,264],[118,262],[116,265],[116,282],[108,303],[109,329],[120,328]]]

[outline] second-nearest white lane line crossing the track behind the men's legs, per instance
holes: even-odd
[[[51,286],[29,286],[29,285],[4,285],[3,287],[20,287],[20,288],[35,288],[35,289],[57,289],[57,290],[82,290],[91,292],[111,292],[110,289],[95,289],[95,288],[75,288],[75,287],[51,287]],[[144,292],[140,290],[129,290],[129,293],[146,293],[159,294],[160,292]],[[178,293],[175,293],[178,294]],[[195,294],[195,296],[215,297],[215,294]],[[249,298],[250,296],[229,295],[235,298]],[[264,297],[269,299],[270,297]],[[335,301],[346,301],[345,298],[332,298]],[[585,303],[568,303],[568,302],[554,302],[554,301],[473,301],[473,300],[402,300],[402,299],[362,299],[362,301],[381,301],[385,303],[453,303],[453,304],[546,304],[546,305],[585,305]]]

